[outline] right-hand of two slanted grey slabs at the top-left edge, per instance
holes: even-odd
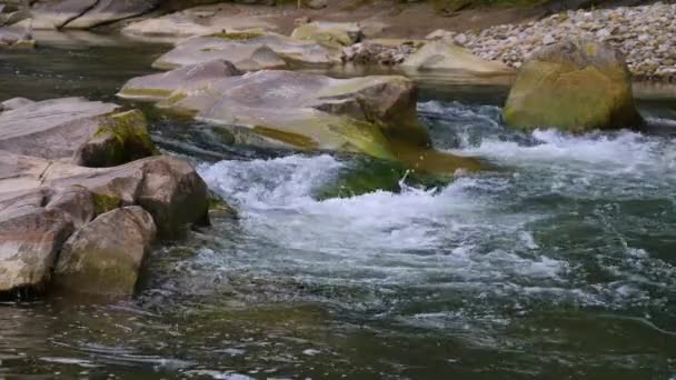
[[[145,14],[158,7],[160,0],[99,0],[96,6],[63,27],[68,29],[90,29],[130,17]]]

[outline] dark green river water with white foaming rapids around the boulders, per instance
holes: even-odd
[[[2,53],[0,98],[109,100],[162,49]],[[133,300],[0,306],[0,378],[674,379],[676,93],[649,133],[573,137],[505,129],[505,91],[426,87],[437,147],[496,168],[434,183],[149,111],[238,216],[158,247]]]

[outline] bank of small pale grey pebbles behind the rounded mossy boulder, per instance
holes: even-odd
[[[521,24],[428,36],[453,40],[481,58],[515,68],[536,50],[571,37],[610,43],[626,56],[639,79],[676,78],[676,4],[567,11]]]

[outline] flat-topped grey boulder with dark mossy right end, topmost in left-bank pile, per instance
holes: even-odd
[[[43,159],[109,167],[156,153],[139,111],[81,98],[10,100],[0,113],[0,149]],[[27,122],[30,120],[30,122]]]

